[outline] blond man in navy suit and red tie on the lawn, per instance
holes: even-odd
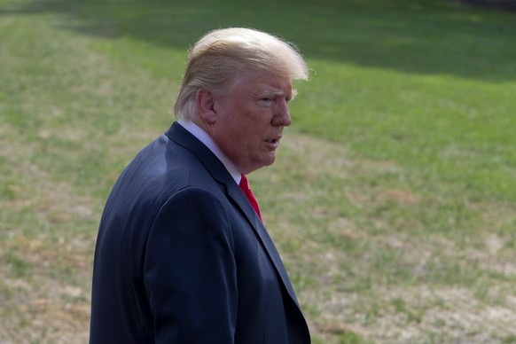
[[[256,200],[238,186],[274,162],[292,80],[307,78],[301,55],[260,31],[215,30],[193,46],[179,121],[107,200],[91,343],[309,343]]]

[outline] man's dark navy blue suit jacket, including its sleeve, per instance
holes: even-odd
[[[92,344],[310,342],[253,207],[177,123],[113,186],[92,286]]]

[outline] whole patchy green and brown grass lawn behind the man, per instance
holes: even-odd
[[[0,342],[88,341],[121,169],[173,121],[189,44],[296,43],[254,193],[315,343],[516,342],[516,13],[431,0],[0,0]]]

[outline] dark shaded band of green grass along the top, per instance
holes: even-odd
[[[516,80],[514,13],[445,0],[27,0],[0,10],[0,16],[31,12],[63,14],[63,28],[82,35],[123,36],[181,49],[216,27],[256,27],[297,43],[309,59],[489,82]]]

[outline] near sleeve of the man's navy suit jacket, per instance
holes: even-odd
[[[234,246],[227,211],[213,193],[190,187],[161,207],[144,273],[156,343],[234,342]]]

